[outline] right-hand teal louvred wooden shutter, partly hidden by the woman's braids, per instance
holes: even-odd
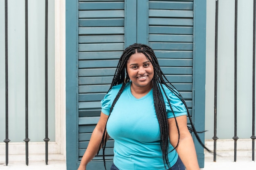
[[[196,0],[137,1],[137,42],[155,51],[168,81],[186,100],[198,131],[204,131],[205,9],[205,3]],[[199,25],[196,29],[194,23]],[[195,40],[195,34],[200,38]],[[202,168],[204,149],[192,136]],[[200,138],[204,142],[203,134]]]

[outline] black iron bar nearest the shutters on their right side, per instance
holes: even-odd
[[[217,148],[217,78],[218,78],[218,0],[216,0],[215,10],[215,76],[214,76],[214,144],[213,144],[213,161],[216,162]]]

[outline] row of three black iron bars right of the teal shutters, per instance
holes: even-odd
[[[216,161],[216,143],[217,137],[217,79],[218,79],[218,9],[219,1],[216,0],[216,15],[215,15],[215,79],[214,79],[214,135],[213,135],[213,161]],[[255,146],[255,37],[256,37],[256,0],[254,0],[253,6],[253,60],[252,60],[252,161],[254,161],[254,146]],[[238,0],[235,0],[235,26],[234,26],[234,161],[237,156],[237,23],[238,23]]]

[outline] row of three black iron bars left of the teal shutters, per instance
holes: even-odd
[[[8,165],[10,142],[8,133],[8,0],[5,0],[5,164]],[[29,126],[28,126],[28,0],[25,0],[25,152],[26,165],[29,164]],[[45,0],[45,163],[48,164],[48,0]]]

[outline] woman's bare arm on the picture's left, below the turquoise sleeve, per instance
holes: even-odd
[[[108,115],[105,115],[104,113],[101,112],[101,117],[98,121],[98,124],[96,125],[96,127],[94,128],[94,130],[92,132],[92,137],[90,139],[87,149],[85,150],[85,153],[83,155],[83,158],[81,160],[78,170],[85,170],[86,165],[97,154],[107,119],[108,119]],[[108,136],[107,139],[109,139],[109,138],[110,137]]]

